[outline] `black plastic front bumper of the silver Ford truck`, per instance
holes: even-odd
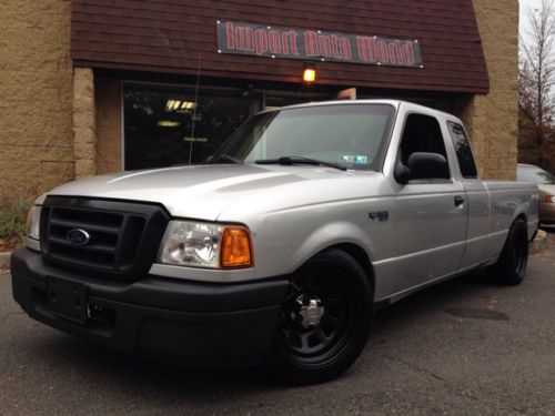
[[[192,367],[256,365],[266,357],[285,277],[212,284],[143,276],[118,282],[47,264],[28,248],[11,256],[14,300],[34,319],[107,345]],[[84,324],[48,305],[47,278],[82,284],[92,311]]]

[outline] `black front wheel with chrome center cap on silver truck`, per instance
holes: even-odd
[[[282,305],[269,366],[279,379],[332,379],[361,354],[370,333],[373,292],[362,266],[331,248],[292,277]]]

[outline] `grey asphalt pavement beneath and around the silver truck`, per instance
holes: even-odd
[[[0,415],[555,415],[555,232],[517,287],[474,273],[377,314],[337,381],[193,372],[30,319],[0,274]],[[224,347],[224,346],[222,346]]]

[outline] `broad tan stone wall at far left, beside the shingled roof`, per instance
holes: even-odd
[[[0,8],[0,190],[37,194],[74,175],[69,0]]]

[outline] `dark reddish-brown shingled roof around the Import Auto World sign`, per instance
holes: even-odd
[[[73,0],[75,65],[300,82],[302,61],[218,53],[216,21],[417,39],[424,68],[319,62],[317,83],[486,93],[472,0]]]

